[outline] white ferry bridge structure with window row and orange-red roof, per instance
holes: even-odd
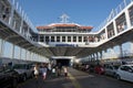
[[[75,23],[52,23],[49,25],[37,26],[39,31],[39,43],[43,46],[83,46],[89,42],[98,41],[98,35],[89,32],[92,26],[82,26]]]

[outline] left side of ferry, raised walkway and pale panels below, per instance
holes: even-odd
[[[0,57],[32,62],[48,62],[49,59],[44,56],[44,53],[48,53],[44,51],[42,52],[42,46],[33,41],[34,37],[38,37],[37,33],[33,32],[33,29],[34,28],[28,16],[22,10],[20,11],[18,3],[16,4],[14,0],[1,0]],[[10,56],[4,55],[6,43],[9,43],[11,46],[8,48],[10,51]],[[17,47],[19,47],[19,53],[16,53]],[[18,57],[16,56],[17,54]]]

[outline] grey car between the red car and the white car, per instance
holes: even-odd
[[[110,75],[110,76],[115,77],[117,68],[119,68],[119,65],[106,65],[104,67],[105,75]]]

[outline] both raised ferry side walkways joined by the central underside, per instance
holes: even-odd
[[[82,33],[96,36],[95,41],[88,44],[45,45],[40,42],[40,35],[34,30],[35,28],[14,0],[0,1],[0,57],[49,62],[52,56],[74,56],[75,58],[88,57],[91,61],[103,58],[102,51],[116,45],[120,46],[120,56],[124,56],[122,44],[133,42],[133,0],[124,0],[119,8],[113,9],[98,28],[99,32]],[[6,47],[7,43],[10,44],[9,47]],[[6,48],[10,50],[10,56],[4,55]]]

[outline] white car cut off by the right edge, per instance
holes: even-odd
[[[116,78],[133,82],[133,64],[120,66],[116,72]]]

